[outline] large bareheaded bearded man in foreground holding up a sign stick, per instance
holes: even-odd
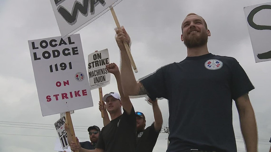
[[[116,30],[121,51],[121,78],[128,95],[147,94],[169,101],[167,152],[237,152],[232,123],[235,101],[247,151],[257,151],[257,127],[248,92],[254,89],[235,58],[213,55],[207,48],[211,36],[205,20],[188,14],[182,23],[181,40],[187,57],[166,65],[139,83],[135,80],[123,42],[130,44],[124,28]],[[165,35],[172,39],[170,35]]]

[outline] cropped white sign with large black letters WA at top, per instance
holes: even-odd
[[[50,0],[64,39],[79,31],[122,0]]]

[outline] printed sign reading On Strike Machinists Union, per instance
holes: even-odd
[[[110,73],[105,68],[109,63],[108,49],[88,55],[88,78],[91,90],[105,87],[110,83]]]

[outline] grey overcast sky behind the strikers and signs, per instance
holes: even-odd
[[[245,6],[265,2],[270,1],[123,0],[114,9],[120,24],[124,25],[132,39],[131,52],[139,71],[135,74],[137,80],[163,65],[185,59],[186,47],[180,41],[181,23],[188,13],[201,15],[211,31],[208,40],[209,52],[236,58],[256,88],[249,95],[257,120],[259,151],[267,152],[271,136],[271,61],[255,63],[243,11]],[[270,9],[269,12],[271,15]],[[0,19],[0,151],[53,152],[57,137],[53,124],[59,119],[59,114],[45,117],[41,115],[27,42],[60,36],[51,3],[49,0],[1,0]],[[120,54],[114,38],[115,27],[109,11],[77,32],[81,36],[85,62],[88,54],[108,48],[110,61],[119,65]],[[113,75],[111,84],[103,88],[104,94],[111,91],[117,91]],[[94,107],[76,110],[71,115],[74,126],[85,126],[75,127],[82,128],[75,129],[80,141],[89,141],[88,126],[103,127],[98,110],[98,89],[92,90],[91,93]],[[132,99],[132,103],[135,111],[142,111],[146,115],[146,125],[149,126],[154,121],[151,106],[144,98]],[[159,106],[163,114],[163,126],[166,126],[167,100],[159,100]],[[233,123],[238,152],[245,151],[234,102]],[[166,138],[165,133],[159,135],[154,147],[155,152],[166,151]]]

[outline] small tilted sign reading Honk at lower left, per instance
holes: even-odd
[[[59,120],[57,120],[54,123],[54,126],[56,128],[57,136],[59,137],[61,146],[64,149],[67,149],[69,147],[68,138],[67,138],[67,131],[65,130],[65,122],[66,118],[61,117]]]

